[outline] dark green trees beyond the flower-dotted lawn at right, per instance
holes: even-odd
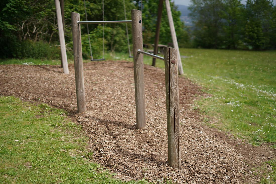
[[[192,0],[193,43],[202,48],[275,48],[271,0]]]

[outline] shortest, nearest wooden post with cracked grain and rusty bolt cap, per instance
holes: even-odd
[[[169,165],[173,168],[181,167],[177,55],[177,49],[164,48],[168,158]]]

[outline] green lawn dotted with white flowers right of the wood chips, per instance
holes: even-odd
[[[185,76],[211,94],[195,108],[252,144],[276,143],[276,51],[181,49]],[[208,123],[208,119],[206,119]]]

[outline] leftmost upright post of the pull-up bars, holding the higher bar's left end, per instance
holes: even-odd
[[[77,24],[77,21],[80,21],[79,13],[71,12],[71,18],[78,112],[84,112],[86,110],[86,105],[83,78],[83,56],[81,48],[81,24]]]

